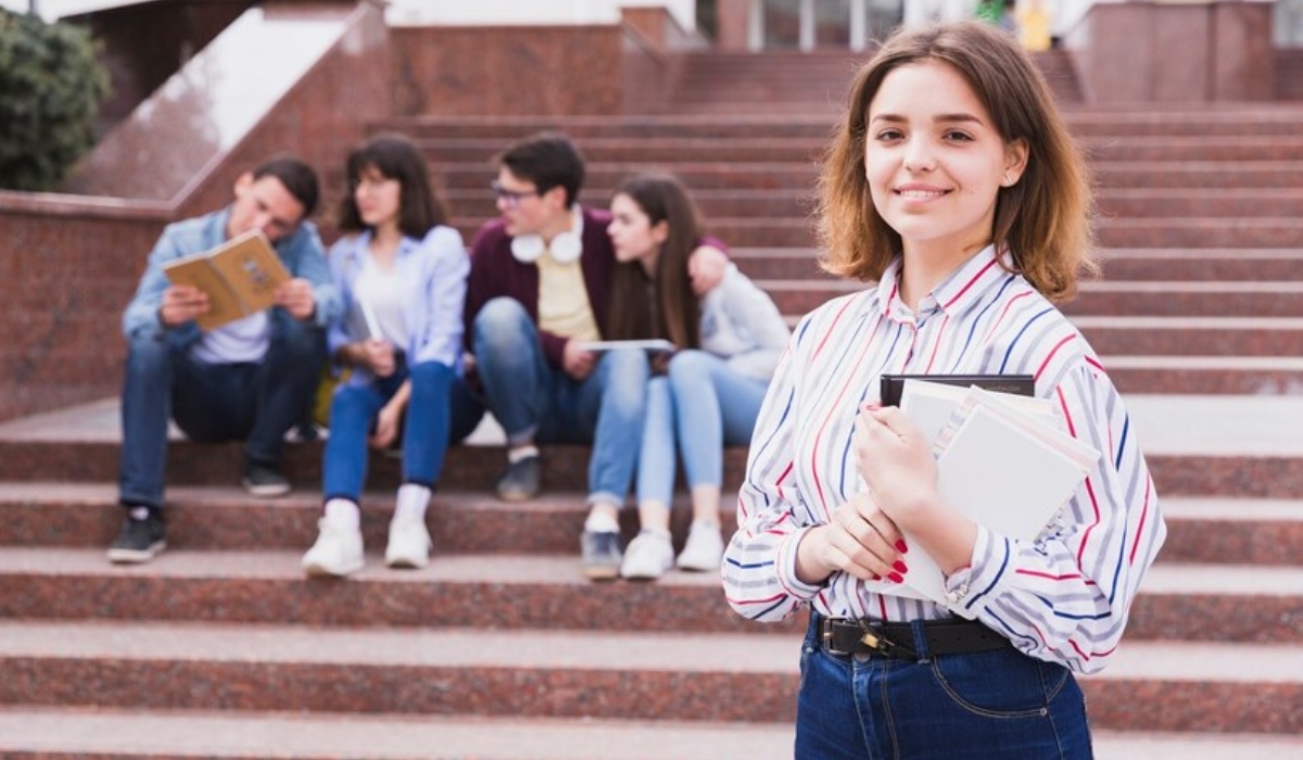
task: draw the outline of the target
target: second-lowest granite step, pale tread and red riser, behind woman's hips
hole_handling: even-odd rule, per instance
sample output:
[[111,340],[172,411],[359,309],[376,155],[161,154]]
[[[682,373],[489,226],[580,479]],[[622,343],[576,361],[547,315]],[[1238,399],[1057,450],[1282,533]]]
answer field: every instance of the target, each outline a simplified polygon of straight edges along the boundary
[[[4,621],[0,704],[774,723],[795,712],[799,643],[778,634]],[[1102,730],[1296,737],[1299,674],[1299,647],[1130,641],[1083,688]]]

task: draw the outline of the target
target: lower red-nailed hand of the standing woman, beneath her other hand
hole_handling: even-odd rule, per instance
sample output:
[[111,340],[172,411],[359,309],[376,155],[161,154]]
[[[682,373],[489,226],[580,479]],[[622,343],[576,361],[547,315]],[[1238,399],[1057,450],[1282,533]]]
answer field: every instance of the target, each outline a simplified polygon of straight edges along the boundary
[[796,548],[796,577],[820,584],[834,572],[847,572],[860,580],[900,583],[908,571],[902,559],[907,550],[896,524],[861,491],[839,506],[830,523],[805,533]]

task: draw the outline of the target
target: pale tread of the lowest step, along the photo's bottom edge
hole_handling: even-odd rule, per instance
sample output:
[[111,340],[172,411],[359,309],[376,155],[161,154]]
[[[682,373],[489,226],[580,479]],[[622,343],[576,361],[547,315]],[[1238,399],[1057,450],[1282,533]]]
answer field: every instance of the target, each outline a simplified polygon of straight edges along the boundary
[[[782,760],[786,723],[0,708],[12,760]],[[1280,760],[1303,738],[1092,731],[1097,760]]]

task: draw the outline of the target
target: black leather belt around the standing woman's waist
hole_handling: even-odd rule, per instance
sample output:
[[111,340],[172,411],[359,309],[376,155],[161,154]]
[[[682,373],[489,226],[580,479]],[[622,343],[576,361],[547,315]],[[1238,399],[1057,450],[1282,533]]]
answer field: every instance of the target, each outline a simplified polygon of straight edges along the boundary
[[[818,635],[830,654],[872,654],[917,660],[909,623],[870,623],[818,617]],[[1009,639],[976,621],[945,619],[923,623],[929,654],[963,654],[1011,647]]]

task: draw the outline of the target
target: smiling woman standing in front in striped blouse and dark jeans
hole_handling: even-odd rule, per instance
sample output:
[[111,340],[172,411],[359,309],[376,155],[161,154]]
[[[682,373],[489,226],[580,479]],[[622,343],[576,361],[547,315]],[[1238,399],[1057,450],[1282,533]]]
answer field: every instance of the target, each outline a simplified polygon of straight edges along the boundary
[[[1091,756],[1074,673],[1117,652],[1165,525],[1126,404],[1054,306],[1089,193],[1038,69],[989,25],[898,33],[855,77],[820,219],[825,266],[868,287],[795,329],[723,563],[737,613],[810,607],[796,757]],[[999,534],[937,495],[885,373],[1032,374],[1102,456],[1035,540]],[[943,602],[898,593],[916,551]]]

